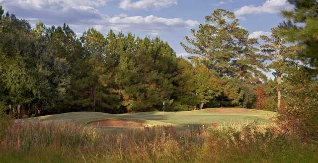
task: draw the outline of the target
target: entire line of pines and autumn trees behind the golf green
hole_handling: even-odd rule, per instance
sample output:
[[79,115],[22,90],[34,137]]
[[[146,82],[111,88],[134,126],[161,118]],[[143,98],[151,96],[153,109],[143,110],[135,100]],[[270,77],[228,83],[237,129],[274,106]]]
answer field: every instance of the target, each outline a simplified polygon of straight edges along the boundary
[[[0,7],[0,106],[16,118],[155,111],[163,100],[168,111],[245,107],[307,115],[317,104],[317,2],[290,2],[295,10],[282,11],[287,20],[261,40],[249,38],[233,12],[213,11],[181,43],[193,54],[188,59],[159,37],[89,28],[79,38],[66,24],[31,28]],[[275,79],[264,75],[269,70]]]

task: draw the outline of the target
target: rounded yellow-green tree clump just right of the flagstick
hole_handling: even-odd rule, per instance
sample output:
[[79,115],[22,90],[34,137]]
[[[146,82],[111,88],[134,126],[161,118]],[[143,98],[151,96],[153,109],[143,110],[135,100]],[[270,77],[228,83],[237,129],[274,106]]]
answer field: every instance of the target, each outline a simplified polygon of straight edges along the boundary
[[[181,92],[175,102],[182,110],[200,109],[210,101],[213,101],[221,93],[218,82],[209,69],[198,62],[198,58],[192,58],[192,66],[185,60],[179,60],[181,79],[179,85]],[[185,108],[184,108],[185,107]],[[184,108],[184,109],[183,109]]]

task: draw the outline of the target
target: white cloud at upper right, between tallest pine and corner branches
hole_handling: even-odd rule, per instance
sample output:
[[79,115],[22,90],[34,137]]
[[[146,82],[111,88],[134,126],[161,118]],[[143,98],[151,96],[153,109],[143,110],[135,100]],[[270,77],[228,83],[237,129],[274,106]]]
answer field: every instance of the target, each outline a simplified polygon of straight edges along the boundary
[[252,14],[252,13],[279,13],[283,9],[293,9],[294,5],[287,0],[266,0],[263,5],[244,5],[234,11],[237,16]]

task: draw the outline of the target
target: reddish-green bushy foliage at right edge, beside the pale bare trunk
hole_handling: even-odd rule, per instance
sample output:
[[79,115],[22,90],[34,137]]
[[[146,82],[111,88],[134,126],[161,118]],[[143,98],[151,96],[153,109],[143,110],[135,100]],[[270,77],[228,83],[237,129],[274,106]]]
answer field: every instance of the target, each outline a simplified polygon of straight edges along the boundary
[[[286,106],[281,118],[297,119],[298,125],[291,126],[300,136],[318,138],[318,80],[307,68],[291,68],[293,73],[286,77]],[[294,69],[294,70],[293,70]]]

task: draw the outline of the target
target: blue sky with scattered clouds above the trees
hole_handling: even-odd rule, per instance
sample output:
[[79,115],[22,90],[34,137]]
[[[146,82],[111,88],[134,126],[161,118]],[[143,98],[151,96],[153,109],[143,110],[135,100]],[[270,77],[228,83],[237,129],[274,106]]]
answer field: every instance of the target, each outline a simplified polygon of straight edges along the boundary
[[106,34],[110,29],[136,36],[159,36],[178,56],[190,29],[205,23],[204,16],[217,8],[233,11],[250,37],[270,35],[283,19],[282,9],[293,9],[287,0],[0,0],[5,11],[47,26],[69,24],[80,36],[90,27]]

